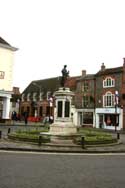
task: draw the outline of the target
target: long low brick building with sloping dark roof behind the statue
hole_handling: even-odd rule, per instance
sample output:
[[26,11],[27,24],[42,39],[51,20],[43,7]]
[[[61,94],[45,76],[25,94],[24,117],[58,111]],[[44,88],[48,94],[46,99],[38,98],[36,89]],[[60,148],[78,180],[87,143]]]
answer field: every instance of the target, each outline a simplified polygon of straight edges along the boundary
[[[66,87],[70,87],[72,91],[75,91],[77,78],[69,77]],[[54,92],[59,87],[60,77],[32,81],[22,93],[20,114],[23,116],[23,113],[27,111],[32,121],[39,121],[45,116],[53,115]]]

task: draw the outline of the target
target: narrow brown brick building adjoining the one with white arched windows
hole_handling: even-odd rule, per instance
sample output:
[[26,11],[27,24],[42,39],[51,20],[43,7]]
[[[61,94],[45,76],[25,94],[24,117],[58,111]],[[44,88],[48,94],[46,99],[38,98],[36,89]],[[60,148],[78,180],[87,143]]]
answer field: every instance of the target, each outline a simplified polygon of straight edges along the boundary
[[75,108],[77,113],[77,125],[94,125],[95,112],[95,75],[86,74],[82,71],[82,76],[77,79],[75,92]]

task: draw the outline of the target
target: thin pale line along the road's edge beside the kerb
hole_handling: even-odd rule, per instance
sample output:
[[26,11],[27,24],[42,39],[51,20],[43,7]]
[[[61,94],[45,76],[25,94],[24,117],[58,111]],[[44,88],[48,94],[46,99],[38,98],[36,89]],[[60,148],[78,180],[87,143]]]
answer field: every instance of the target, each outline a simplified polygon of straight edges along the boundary
[[71,155],[71,156],[125,156],[125,153],[58,153],[58,152],[30,152],[30,151],[7,151],[0,150],[0,153],[15,153],[15,154],[33,154],[33,155]]

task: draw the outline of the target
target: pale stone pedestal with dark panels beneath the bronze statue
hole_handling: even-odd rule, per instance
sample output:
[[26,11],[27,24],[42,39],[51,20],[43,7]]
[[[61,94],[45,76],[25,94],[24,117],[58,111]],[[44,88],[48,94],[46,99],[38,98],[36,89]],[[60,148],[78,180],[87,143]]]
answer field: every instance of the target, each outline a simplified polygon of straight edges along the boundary
[[72,137],[77,133],[77,128],[73,124],[71,114],[72,97],[74,93],[69,88],[59,88],[55,92],[56,108],[54,113],[54,123],[50,125],[49,134],[52,142],[72,141]]

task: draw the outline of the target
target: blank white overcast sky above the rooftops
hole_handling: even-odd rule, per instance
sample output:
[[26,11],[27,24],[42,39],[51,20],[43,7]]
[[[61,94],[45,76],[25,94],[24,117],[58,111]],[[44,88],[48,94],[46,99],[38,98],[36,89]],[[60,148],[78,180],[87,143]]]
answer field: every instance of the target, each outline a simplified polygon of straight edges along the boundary
[[15,52],[13,86],[123,65],[125,0],[0,0],[0,36]]

